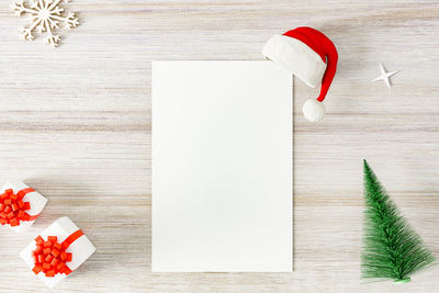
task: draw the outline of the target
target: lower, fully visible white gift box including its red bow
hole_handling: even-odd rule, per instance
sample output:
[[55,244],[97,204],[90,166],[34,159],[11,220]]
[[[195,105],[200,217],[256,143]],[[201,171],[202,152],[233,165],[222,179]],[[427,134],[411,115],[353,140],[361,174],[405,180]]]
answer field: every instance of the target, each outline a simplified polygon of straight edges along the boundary
[[95,247],[68,217],[55,221],[20,256],[48,288],[67,278],[93,252]]

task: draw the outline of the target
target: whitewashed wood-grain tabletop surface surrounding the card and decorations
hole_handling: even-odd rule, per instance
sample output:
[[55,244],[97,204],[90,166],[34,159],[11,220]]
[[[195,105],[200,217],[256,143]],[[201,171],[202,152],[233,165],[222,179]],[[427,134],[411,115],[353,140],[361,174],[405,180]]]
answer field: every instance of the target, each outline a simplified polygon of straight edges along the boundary
[[[439,257],[439,2],[75,0],[55,52],[18,42],[0,3],[0,181],[49,199],[0,234],[0,291],[44,292],[19,251],[67,215],[98,251],[53,292],[439,292],[439,266],[404,285],[360,280],[362,162]],[[340,59],[320,124],[295,82],[294,272],[150,272],[150,60],[261,59],[274,33],[322,30]],[[379,63],[401,70],[389,90]]]

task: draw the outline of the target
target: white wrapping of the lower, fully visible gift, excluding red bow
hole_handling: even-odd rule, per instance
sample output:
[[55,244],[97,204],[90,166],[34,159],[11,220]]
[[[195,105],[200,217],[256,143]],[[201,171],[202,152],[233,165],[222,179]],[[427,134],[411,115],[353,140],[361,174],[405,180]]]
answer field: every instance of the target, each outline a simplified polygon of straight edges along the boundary
[[[48,236],[56,236],[57,241],[63,244],[69,236],[75,233],[78,233],[79,228],[71,222],[68,217],[61,217],[55,221],[47,229],[40,234],[40,236],[44,239],[44,241],[48,240]],[[32,269],[35,266],[35,260],[33,256],[33,251],[36,248],[36,240],[33,240],[26,248],[24,248],[20,256],[27,263],[31,272],[34,274]],[[75,271],[81,266],[93,252],[95,251],[95,247],[93,244],[87,238],[86,235],[81,234],[81,236],[75,239],[68,248],[65,250],[67,253],[71,253],[71,261],[67,261],[66,266]],[[65,273],[56,273],[54,277],[46,277],[46,274],[41,271],[37,273],[40,280],[42,280],[48,288],[54,288],[57,283],[67,278]]]

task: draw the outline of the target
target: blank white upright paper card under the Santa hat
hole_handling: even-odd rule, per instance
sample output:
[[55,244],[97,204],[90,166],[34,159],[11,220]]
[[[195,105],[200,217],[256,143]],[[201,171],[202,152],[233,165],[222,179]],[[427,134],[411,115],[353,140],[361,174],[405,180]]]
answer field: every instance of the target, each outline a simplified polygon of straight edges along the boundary
[[292,77],[153,63],[153,271],[291,272]]

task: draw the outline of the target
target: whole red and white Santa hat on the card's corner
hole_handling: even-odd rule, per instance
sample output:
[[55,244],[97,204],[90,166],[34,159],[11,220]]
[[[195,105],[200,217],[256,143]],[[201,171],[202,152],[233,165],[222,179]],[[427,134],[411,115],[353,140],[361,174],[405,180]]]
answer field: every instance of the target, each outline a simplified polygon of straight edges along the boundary
[[322,83],[317,100],[307,100],[303,105],[307,120],[320,121],[326,111],[323,101],[337,70],[338,54],[333,42],[317,30],[302,26],[272,36],[263,46],[262,54],[309,87]]

